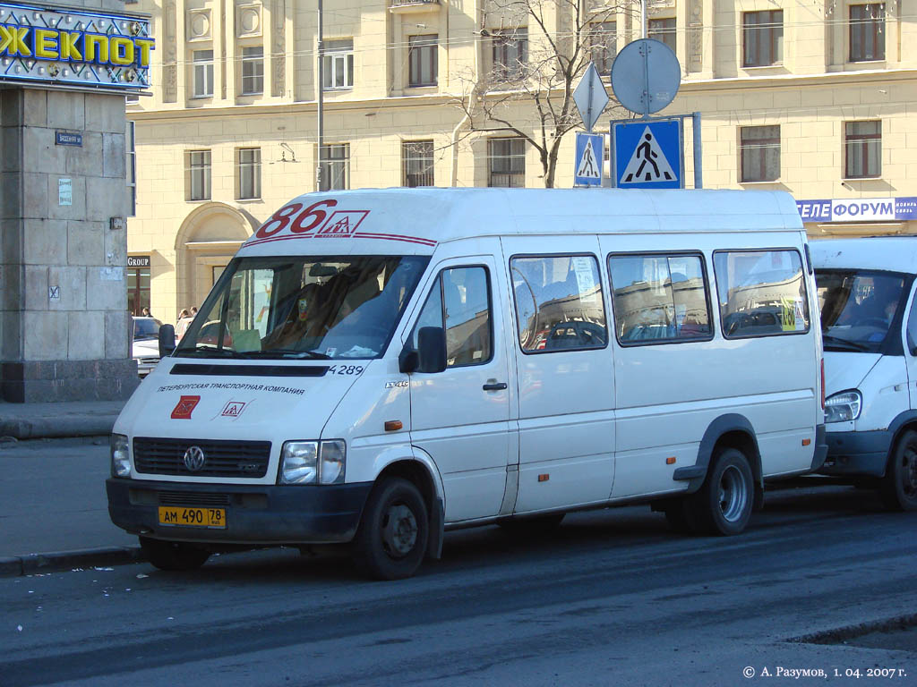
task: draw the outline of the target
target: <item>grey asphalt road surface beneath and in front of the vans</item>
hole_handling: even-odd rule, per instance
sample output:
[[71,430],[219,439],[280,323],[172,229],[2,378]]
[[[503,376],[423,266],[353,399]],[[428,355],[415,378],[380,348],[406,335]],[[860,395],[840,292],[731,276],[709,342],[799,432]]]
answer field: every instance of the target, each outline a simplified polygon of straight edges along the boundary
[[3,579],[0,684],[912,685],[912,641],[851,637],[917,610],[915,525],[869,492],[789,489],[729,539],[646,507],[452,532],[397,583],[295,551]]

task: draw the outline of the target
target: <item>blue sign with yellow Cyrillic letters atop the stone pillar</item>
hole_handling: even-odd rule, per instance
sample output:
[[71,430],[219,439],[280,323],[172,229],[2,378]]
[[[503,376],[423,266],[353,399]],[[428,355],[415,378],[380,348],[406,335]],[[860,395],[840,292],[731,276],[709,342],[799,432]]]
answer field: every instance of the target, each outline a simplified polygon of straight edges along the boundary
[[149,21],[0,3],[0,82],[149,88]]

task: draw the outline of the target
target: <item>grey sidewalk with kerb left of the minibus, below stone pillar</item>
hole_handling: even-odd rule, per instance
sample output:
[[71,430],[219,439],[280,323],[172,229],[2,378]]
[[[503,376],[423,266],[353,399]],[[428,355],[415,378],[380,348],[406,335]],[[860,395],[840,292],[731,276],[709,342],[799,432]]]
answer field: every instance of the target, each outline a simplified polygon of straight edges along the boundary
[[105,498],[125,402],[0,402],[0,577],[139,560]]

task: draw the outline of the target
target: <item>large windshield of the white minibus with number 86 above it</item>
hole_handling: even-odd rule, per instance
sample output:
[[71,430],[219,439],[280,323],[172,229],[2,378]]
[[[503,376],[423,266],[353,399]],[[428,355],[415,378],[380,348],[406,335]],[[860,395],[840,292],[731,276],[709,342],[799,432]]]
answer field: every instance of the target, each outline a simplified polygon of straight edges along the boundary
[[236,258],[175,355],[379,357],[428,261],[421,256]]

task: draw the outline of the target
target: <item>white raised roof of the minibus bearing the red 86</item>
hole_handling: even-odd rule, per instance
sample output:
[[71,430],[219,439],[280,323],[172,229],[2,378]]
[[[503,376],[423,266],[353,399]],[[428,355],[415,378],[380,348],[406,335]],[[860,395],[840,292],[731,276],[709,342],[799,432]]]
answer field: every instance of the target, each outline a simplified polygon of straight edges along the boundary
[[802,222],[783,191],[360,189],[293,199],[241,250],[315,254],[315,246],[292,239],[321,238],[332,242],[324,254],[425,255],[437,244],[482,236],[788,230],[802,231]]

